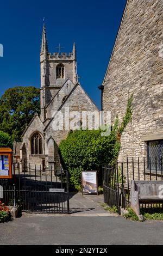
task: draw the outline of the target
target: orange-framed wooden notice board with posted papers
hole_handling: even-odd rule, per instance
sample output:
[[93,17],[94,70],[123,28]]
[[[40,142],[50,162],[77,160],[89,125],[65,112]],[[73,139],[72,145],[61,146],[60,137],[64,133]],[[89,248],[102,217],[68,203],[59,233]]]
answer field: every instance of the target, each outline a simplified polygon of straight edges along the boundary
[[0,148],[0,179],[12,178],[12,149]]

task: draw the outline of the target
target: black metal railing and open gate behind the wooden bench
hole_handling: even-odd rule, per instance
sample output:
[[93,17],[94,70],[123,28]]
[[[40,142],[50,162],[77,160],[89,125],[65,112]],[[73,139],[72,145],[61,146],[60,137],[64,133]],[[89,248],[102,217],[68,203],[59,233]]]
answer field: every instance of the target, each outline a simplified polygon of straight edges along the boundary
[[[143,158],[127,157],[124,162],[116,164],[103,164],[103,190],[104,202],[109,206],[120,208],[130,207],[130,183],[131,180],[161,180],[163,182],[163,159],[151,161]],[[151,208],[152,204],[141,204],[143,208]],[[162,207],[162,204],[155,204]]]

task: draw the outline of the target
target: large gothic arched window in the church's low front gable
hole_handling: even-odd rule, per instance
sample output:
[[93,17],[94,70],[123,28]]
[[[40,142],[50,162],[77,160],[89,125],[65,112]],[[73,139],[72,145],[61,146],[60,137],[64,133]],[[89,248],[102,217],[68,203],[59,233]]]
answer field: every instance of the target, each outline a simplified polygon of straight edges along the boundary
[[31,154],[42,155],[42,137],[39,132],[35,132],[31,138]]

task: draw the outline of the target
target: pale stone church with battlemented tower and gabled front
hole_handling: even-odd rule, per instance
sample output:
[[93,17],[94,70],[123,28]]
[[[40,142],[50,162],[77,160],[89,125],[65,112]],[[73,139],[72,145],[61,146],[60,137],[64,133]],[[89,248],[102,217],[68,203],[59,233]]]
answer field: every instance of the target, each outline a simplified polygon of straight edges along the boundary
[[[76,45],[71,53],[48,51],[46,27],[43,25],[40,53],[41,114],[35,114],[23,132],[23,142],[14,144],[15,157],[23,168],[60,170],[58,145],[67,137],[68,129],[54,129],[57,111],[98,111],[95,103],[85,93],[78,81]],[[17,151],[20,148],[20,156]],[[17,154],[17,155],[16,155]],[[24,167],[25,166],[25,167]],[[25,169],[27,170],[27,168]]]

